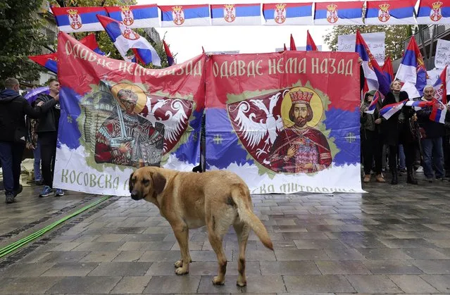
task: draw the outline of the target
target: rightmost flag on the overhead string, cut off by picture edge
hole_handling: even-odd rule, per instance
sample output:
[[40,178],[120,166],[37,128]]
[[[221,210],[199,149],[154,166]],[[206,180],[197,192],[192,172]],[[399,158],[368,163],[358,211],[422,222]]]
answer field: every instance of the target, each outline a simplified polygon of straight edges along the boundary
[[419,25],[449,24],[450,2],[446,0],[420,0],[416,19]]

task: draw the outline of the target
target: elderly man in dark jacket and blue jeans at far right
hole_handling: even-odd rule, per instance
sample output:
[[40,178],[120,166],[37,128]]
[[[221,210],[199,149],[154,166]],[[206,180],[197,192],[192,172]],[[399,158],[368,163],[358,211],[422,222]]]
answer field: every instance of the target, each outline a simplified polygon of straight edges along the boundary
[[[423,101],[432,101],[435,89],[431,85],[423,89]],[[449,110],[449,106],[446,106]],[[423,138],[420,140],[423,151],[423,173],[428,182],[433,182],[433,166],[436,170],[436,180],[444,180],[444,151],[442,137],[445,134],[444,124],[430,120],[432,106],[422,108],[417,112],[418,123],[423,128]],[[449,113],[447,113],[449,115]]]

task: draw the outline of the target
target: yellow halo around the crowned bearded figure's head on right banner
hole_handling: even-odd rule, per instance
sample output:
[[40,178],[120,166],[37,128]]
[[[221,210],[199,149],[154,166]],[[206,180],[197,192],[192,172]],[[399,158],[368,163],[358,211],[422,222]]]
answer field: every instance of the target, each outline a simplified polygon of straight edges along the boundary
[[314,127],[315,125],[318,125],[320,120],[322,120],[323,104],[322,99],[320,99],[320,96],[317,94],[317,92],[308,87],[294,87],[285,92],[285,96],[283,96],[283,101],[281,103],[281,118],[283,120],[283,124],[285,125],[285,127],[292,127],[294,125],[294,122],[289,119],[289,111],[292,107],[291,96],[289,96],[289,93],[299,90],[303,92],[313,92],[313,97],[311,99],[311,102],[309,103],[311,109],[313,110],[313,120],[306,123],[306,125],[308,125],[309,127]]

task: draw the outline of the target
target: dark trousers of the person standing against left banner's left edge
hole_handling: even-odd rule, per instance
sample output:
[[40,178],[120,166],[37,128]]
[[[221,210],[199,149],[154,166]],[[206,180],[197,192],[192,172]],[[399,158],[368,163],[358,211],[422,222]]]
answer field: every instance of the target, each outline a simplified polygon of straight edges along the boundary
[[44,179],[44,185],[48,185],[51,188],[53,188],[53,173],[55,170],[56,140],[56,132],[39,133],[42,178]]

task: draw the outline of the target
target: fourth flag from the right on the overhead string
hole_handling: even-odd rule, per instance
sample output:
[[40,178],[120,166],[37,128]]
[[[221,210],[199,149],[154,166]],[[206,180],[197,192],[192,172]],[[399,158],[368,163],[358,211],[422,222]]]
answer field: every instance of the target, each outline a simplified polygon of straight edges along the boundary
[[263,4],[265,25],[312,25],[313,3]]

